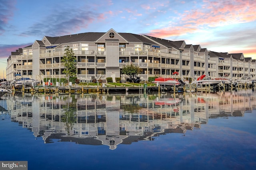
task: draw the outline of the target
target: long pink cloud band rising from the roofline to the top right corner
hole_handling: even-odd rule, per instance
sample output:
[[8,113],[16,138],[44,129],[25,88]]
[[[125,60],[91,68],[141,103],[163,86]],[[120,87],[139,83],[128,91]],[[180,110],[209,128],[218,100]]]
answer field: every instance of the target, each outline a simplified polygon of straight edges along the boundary
[[200,26],[217,27],[226,24],[252,22],[256,20],[256,3],[254,0],[204,0],[202,7],[196,10],[185,11],[180,15],[178,26],[151,30],[148,34],[160,38],[181,36],[195,33]]

